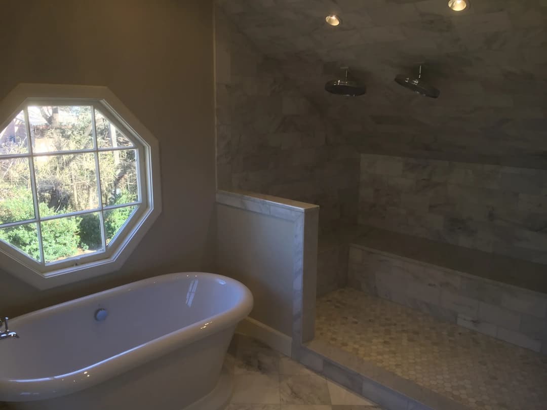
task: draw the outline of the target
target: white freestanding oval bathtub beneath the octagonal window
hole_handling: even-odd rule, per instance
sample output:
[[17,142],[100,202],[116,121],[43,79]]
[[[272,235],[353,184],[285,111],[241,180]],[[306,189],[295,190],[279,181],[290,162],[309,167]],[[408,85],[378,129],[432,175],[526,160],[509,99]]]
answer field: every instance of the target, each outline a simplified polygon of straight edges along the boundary
[[[251,292],[212,273],[141,280],[10,321],[0,402],[25,410],[222,408],[221,377]],[[102,310],[104,309],[104,310]]]

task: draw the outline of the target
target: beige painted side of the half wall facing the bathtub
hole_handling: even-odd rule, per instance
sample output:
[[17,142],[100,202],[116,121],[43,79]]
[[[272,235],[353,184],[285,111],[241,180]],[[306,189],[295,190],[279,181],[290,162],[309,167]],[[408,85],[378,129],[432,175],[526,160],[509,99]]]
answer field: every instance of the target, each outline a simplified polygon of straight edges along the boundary
[[292,335],[294,222],[217,204],[217,271],[254,296],[251,317]]

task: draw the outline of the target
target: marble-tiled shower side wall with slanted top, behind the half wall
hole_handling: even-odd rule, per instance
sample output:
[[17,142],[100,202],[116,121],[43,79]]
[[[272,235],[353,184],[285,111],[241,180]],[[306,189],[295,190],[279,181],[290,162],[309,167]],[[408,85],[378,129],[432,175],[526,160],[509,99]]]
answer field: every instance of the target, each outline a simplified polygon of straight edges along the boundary
[[218,188],[318,204],[323,232],[356,224],[359,155],[278,66],[217,9]]

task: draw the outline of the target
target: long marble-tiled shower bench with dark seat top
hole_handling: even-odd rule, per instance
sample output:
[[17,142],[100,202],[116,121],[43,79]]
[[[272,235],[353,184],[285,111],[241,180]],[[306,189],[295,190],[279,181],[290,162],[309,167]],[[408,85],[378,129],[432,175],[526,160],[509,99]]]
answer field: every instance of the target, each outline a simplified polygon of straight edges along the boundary
[[547,265],[360,227],[348,285],[547,354]]

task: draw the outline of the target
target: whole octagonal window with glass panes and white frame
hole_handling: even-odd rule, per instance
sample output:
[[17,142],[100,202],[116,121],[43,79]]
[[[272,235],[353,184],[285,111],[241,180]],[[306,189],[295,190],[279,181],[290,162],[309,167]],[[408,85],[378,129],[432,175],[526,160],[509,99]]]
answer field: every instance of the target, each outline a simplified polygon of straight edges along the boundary
[[27,97],[0,128],[0,251],[33,284],[107,273],[159,211],[150,143],[105,99],[82,97]]

